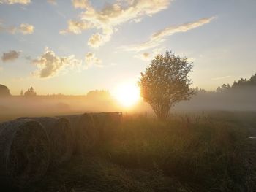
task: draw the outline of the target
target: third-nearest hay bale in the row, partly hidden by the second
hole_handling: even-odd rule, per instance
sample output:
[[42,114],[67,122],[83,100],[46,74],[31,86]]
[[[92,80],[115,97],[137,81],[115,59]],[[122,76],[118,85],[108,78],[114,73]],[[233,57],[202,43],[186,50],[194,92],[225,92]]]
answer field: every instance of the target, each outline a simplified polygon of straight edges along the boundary
[[70,122],[74,135],[75,153],[83,154],[91,150],[95,144],[94,120],[90,114],[63,116]]

